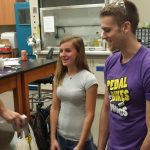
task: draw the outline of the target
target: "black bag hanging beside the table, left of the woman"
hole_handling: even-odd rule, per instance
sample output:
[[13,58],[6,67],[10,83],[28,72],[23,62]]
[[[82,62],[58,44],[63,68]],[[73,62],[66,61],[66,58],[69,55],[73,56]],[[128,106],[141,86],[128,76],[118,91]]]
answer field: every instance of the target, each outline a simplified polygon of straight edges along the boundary
[[39,150],[50,149],[50,106],[40,108],[30,116],[30,125],[33,129]]

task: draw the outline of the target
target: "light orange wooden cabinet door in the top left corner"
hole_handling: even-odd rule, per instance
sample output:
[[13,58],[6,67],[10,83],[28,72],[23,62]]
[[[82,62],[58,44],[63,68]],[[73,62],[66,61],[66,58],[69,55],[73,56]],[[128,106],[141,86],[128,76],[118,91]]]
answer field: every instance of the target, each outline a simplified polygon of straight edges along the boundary
[[15,0],[0,0],[0,25],[14,25],[14,2]]

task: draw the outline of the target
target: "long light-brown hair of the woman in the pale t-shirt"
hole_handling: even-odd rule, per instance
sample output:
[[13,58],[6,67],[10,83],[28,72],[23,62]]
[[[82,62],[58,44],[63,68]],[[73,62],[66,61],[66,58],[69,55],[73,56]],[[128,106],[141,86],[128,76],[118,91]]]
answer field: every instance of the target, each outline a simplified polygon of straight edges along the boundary
[[[75,47],[75,49],[78,52],[78,56],[76,57],[76,60],[75,60],[75,64],[76,64],[78,70],[86,69],[86,70],[90,71],[89,66],[87,64],[87,59],[85,56],[85,47],[84,47],[83,39],[78,36],[68,36],[61,40],[60,46],[66,42],[72,42],[73,46]],[[59,52],[59,54],[60,54],[60,52]],[[67,71],[68,71],[67,67],[63,66],[60,56],[58,56],[57,68],[56,68],[56,72],[55,72],[56,86],[61,85]]]

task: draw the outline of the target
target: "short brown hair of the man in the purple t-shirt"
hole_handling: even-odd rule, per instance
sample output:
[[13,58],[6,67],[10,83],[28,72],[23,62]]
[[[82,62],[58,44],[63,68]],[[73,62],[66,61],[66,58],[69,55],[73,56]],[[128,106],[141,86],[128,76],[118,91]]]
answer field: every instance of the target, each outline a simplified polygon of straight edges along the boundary
[[129,0],[123,0],[123,2],[124,7],[115,3],[106,5],[100,12],[100,17],[112,16],[119,26],[129,21],[131,23],[131,30],[135,34],[139,24],[137,7]]

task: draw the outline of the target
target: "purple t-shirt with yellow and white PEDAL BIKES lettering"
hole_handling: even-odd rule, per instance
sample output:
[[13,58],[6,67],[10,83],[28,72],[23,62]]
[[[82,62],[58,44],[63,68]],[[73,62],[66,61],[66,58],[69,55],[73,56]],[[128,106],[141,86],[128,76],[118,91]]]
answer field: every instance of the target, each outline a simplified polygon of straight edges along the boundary
[[108,150],[139,150],[147,133],[146,100],[150,100],[150,49],[142,46],[125,64],[121,53],[106,60],[109,90]]

